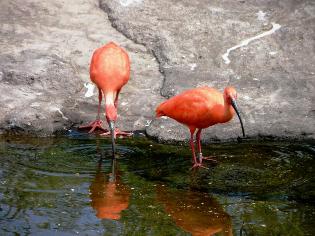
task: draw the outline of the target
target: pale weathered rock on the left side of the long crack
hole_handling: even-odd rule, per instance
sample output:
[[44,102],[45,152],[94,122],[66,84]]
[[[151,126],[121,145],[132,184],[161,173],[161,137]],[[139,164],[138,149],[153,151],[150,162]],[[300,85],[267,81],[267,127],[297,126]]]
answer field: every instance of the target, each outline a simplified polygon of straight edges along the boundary
[[0,133],[47,136],[94,121],[98,91],[86,94],[89,64],[109,41],[127,51],[132,68],[117,128],[145,130],[163,101],[163,75],[145,47],[112,28],[97,1],[4,1],[0,18]]

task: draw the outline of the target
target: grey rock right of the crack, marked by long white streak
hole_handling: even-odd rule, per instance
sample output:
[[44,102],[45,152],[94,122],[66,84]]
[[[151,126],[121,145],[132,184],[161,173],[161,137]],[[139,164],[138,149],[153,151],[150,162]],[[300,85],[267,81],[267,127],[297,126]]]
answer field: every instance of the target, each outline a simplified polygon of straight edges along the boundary
[[[118,31],[157,57],[166,98],[198,86],[223,92],[232,85],[247,137],[315,137],[313,1],[136,1],[123,6],[101,0],[101,7]],[[272,30],[272,23],[281,28],[232,50],[231,62],[225,63],[227,49]],[[158,118],[146,131],[159,140],[189,138],[188,129],[170,119]],[[202,138],[227,141],[238,135],[236,117],[205,129]]]

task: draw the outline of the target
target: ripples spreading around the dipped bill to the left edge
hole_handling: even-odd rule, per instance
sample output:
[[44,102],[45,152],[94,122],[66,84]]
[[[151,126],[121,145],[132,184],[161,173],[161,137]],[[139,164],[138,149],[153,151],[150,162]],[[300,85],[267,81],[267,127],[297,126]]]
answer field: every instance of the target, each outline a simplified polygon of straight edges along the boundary
[[[7,146],[2,154],[2,171],[11,175],[18,171],[31,170],[50,176],[90,176],[95,173],[100,158],[103,159],[104,170],[111,168],[112,145],[108,141],[96,139],[95,142],[95,138],[80,138],[60,142],[46,149]],[[119,161],[128,161],[133,155],[140,153],[142,152],[137,148],[116,144],[115,154]]]

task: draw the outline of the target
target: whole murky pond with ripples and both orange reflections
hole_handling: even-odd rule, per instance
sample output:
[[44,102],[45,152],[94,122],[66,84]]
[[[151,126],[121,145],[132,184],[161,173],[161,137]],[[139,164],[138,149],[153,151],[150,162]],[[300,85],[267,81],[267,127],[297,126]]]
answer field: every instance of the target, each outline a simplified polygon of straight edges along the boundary
[[0,235],[314,235],[315,143],[0,138]]

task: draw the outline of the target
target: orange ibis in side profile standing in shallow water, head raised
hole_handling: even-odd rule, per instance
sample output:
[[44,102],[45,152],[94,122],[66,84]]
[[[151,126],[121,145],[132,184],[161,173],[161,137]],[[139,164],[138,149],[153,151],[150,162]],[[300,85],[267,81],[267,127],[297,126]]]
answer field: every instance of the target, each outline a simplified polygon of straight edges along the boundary
[[[223,94],[215,88],[198,87],[170,98],[157,107],[157,115],[155,117],[168,116],[189,127],[191,133],[190,147],[194,161],[192,168],[196,166],[206,168],[203,165],[209,164],[201,164],[202,160],[213,160],[209,159],[210,157],[202,156],[200,146],[200,134],[202,129],[230,121],[234,116],[234,110],[241,122],[243,137],[245,136],[243,122],[236,104],[236,97],[236,91],[231,86],[227,86]],[[195,144],[193,140],[196,129],[198,129],[196,139],[200,163],[196,160]]]

